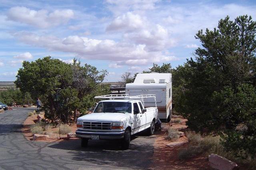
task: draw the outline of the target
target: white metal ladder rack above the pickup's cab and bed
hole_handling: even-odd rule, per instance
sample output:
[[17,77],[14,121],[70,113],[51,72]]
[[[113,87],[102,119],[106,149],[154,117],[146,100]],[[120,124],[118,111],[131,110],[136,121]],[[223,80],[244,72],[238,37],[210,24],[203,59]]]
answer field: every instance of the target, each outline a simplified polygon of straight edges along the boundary
[[96,99],[140,99],[144,105],[144,98],[154,98],[156,104],[156,95],[155,94],[142,94],[138,96],[129,96],[129,94],[109,94],[104,96],[95,96]]

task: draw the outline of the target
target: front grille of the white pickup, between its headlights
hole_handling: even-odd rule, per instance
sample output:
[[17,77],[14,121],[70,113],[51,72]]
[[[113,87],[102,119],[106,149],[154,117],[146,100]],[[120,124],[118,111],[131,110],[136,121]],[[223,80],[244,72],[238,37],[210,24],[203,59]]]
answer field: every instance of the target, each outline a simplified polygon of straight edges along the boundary
[[83,122],[83,129],[111,130],[111,122],[84,121]]

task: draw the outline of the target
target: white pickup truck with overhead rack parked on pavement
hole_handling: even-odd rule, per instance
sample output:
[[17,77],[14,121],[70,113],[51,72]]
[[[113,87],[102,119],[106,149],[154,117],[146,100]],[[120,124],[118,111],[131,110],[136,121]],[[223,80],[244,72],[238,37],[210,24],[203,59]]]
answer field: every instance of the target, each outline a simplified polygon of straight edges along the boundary
[[[81,146],[87,147],[88,139],[119,139],[123,149],[128,149],[131,135],[147,129],[154,134],[158,120],[157,107],[144,108],[143,98],[155,95],[105,95],[95,98],[100,101],[93,113],[77,119],[76,136],[81,138]],[[139,99],[139,100],[138,100]]]

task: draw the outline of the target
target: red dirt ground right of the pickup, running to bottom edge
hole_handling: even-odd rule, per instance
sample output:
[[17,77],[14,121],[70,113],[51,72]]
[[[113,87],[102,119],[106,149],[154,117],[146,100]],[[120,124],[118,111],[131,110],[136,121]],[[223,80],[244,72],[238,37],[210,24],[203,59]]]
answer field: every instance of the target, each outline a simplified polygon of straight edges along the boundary
[[[178,129],[179,131],[185,131],[186,119],[182,119],[182,123],[174,123],[170,126],[170,123],[162,123],[162,131],[156,132],[156,138],[154,143],[154,156],[152,158],[152,169],[161,170],[209,170],[210,164],[208,158],[202,155],[194,156],[188,160],[178,159],[178,151],[188,145],[188,139],[186,136],[179,138],[175,142],[170,142],[165,139],[167,130],[169,127]],[[181,145],[170,147],[174,143],[181,143]],[[183,144],[182,144],[183,143]]]

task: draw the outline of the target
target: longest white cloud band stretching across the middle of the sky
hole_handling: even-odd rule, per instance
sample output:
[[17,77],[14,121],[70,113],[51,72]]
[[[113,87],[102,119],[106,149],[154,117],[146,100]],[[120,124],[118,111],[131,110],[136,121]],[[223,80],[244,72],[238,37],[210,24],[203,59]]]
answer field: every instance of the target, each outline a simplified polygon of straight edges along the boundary
[[[92,60],[117,61],[122,65],[143,65],[156,60],[171,61],[174,59],[162,55],[161,51],[147,51],[146,45],[116,42],[110,39],[88,39],[79,36],[68,36],[60,39],[51,35],[39,36],[26,32],[15,33],[14,36],[24,43],[52,51],[76,53],[78,57]],[[116,67],[112,64],[110,66]]]

